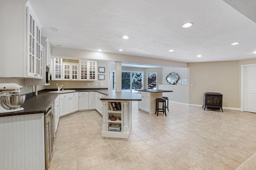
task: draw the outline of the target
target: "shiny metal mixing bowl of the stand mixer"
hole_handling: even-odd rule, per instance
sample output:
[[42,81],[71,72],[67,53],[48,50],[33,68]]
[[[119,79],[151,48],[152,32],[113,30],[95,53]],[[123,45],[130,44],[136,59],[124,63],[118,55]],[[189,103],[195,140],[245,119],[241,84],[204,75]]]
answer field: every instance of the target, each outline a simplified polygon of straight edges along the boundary
[[2,101],[10,109],[18,109],[25,102],[26,94],[8,94],[2,96]]

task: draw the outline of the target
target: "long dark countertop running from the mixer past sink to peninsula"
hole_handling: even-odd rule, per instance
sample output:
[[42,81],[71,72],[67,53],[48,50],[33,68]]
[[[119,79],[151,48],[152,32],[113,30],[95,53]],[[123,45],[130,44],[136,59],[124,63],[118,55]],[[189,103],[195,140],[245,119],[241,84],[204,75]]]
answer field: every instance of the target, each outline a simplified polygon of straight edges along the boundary
[[[77,89],[74,89],[77,90]],[[76,92],[99,92],[104,95],[108,95],[102,98],[102,100],[141,100],[141,94],[132,94],[128,92],[115,92],[114,90],[107,89],[79,89]],[[67,92],[72,93],[72,92]],[[62,93],[63,94],[63,93]],[[24,104],[21,107],[24,108],[22,111],[10,112],[10,113],[0,113],[0,117],[14,116],[14,115],[26,115],[34,113],[46,113],[46,111],[51,107],[55,98],[59,93],[49,93],[46,89],[44,92],[38,94],[37,96],[31,96],[26,98]]]

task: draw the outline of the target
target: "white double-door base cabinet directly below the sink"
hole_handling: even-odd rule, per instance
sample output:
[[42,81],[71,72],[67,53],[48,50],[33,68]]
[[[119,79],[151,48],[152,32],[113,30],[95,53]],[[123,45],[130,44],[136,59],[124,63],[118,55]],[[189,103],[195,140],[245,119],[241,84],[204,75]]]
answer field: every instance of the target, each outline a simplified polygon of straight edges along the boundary
[[60,94],[60,116],[78,110],[78,92]]

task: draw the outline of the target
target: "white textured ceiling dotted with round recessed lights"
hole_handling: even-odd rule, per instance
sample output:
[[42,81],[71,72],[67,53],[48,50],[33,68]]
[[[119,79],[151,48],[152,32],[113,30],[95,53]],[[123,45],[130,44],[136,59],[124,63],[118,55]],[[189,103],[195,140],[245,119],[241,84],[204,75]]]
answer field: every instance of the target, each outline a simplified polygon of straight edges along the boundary
[[225,1],[30,0],[52,46],[187,63],[256,58],[255,15],[234,9],[255,0]]

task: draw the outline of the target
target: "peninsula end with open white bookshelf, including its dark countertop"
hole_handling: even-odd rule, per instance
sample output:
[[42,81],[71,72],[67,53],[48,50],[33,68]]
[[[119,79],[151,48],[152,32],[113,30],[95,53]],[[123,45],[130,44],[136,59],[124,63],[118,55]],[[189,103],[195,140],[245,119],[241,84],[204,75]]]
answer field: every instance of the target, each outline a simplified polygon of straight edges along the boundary
[[[141,95],[113,92],[100,100],[103,106],[102,137],[127,139],[132,126],[132,101],[140,101]],[[112,126],[113,128],[111,128]]]

